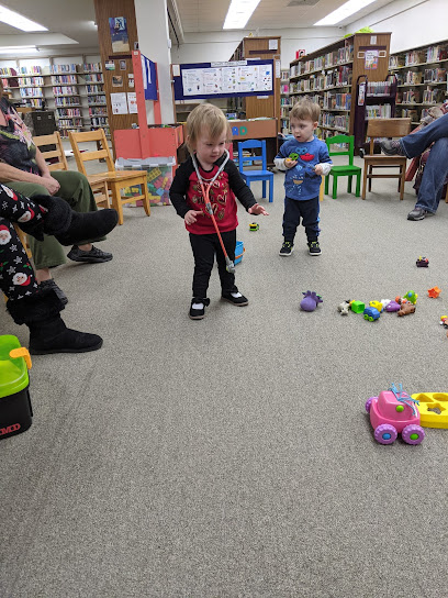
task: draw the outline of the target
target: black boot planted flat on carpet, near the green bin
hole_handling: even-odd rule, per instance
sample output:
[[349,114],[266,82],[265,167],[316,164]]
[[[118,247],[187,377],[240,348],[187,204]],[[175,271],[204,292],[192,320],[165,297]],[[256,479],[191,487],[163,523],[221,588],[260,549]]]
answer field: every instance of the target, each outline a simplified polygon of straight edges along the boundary
[[15,301],[9,300],[8,311],[16,324],[30,329],[30,353],[86,353],[102,345],[101,336],[68,329],[59,312],[64,304],[54,290],[44,291]]

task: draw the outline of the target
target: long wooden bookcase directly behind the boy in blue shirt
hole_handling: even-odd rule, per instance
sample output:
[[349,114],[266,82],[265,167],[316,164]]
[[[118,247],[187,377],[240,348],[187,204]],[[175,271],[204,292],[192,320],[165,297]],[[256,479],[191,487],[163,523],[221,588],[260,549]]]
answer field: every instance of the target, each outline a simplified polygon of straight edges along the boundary
[[355,33],[290,63],[290,98],[309,96],[321,106],[322,139],[354,134],[356,82],[384,81],[389,73],[390,33]]

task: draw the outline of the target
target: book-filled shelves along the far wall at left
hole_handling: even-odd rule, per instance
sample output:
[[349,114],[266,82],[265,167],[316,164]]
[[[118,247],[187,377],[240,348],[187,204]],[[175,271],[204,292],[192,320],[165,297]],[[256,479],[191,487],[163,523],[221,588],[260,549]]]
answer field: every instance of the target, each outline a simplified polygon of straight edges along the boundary
[[13,103],[55,110],[63,137],[99,128],[109,135],[101,63],[2,67],[0,77]]

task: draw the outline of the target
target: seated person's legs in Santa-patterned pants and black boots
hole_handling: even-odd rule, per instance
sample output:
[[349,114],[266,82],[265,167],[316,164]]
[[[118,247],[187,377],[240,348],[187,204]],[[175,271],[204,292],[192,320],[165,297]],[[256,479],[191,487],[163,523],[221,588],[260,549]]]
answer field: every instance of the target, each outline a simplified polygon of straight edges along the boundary
[[110,232],[116,222],[115,210],[79,213],[60,198],[35,196],[31,200],[0,185],[0,289],[8,297],[7,309],[14,322],[30,329],[30,353],[96,351],[102,339],[65,325],[63,302],[53,289],[37,285],[13,223],[37,240],[45,233],[63,245],[71,245],[86,234]]

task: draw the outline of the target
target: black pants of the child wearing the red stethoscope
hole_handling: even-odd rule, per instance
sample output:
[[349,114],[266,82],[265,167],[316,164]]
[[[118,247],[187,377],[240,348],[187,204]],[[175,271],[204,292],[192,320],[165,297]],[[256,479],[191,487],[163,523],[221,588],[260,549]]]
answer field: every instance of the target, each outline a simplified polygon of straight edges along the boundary
[[[235,262],[236,230],[221,233],[221,236],[228,257]],[[225,269],[225,258],[217,234],[190,233],[190,243],[194,256],[193,297],[206,298],[215,254],[222,292],[238,292],[235,286],[235,275]]]

